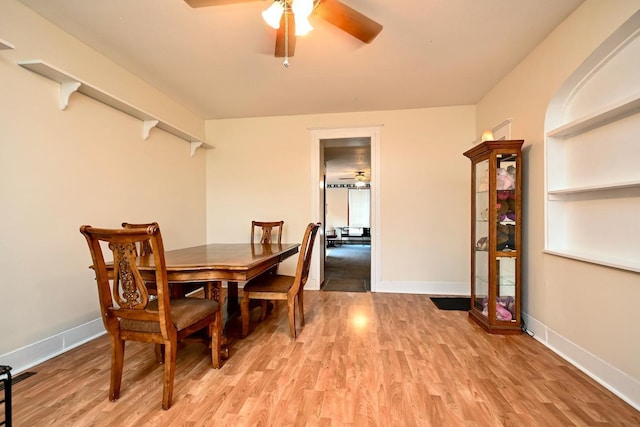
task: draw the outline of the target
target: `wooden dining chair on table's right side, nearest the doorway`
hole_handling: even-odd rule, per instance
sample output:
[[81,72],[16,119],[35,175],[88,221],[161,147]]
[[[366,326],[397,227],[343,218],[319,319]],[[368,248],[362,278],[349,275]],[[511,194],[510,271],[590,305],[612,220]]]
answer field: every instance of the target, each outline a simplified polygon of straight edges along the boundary
[[295,305],[298,303],[300,325],[304,326],[304,285],[307,283],[311,266],[313,243],[320,224],[310,223],[304,233],[295,276],[281,274],[262,275],[252,279],[244,286],[244,293],[240,303],[242,315],[242,336],[249,333],[249,302],[255,300],[286,300],[289,316],[289,332],[296,338]]

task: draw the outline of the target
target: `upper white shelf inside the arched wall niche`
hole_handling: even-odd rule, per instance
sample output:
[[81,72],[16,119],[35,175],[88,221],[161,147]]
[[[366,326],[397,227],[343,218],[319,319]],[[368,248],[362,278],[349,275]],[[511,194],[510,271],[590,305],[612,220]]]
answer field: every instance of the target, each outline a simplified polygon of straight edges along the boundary
[[640,96],[636,95],[552,129],[547,132],[547,136],[570,138],[638,112],[640,112]]

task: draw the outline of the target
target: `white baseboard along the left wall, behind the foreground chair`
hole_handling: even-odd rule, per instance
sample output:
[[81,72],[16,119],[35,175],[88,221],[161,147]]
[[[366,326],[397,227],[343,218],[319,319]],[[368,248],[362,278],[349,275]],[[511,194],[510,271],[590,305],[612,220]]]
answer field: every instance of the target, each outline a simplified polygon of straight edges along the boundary
[[91,320],[10,353],[2,354],[0,365],[11,366],[11,375],[15,376],[106,333],[101,318]]

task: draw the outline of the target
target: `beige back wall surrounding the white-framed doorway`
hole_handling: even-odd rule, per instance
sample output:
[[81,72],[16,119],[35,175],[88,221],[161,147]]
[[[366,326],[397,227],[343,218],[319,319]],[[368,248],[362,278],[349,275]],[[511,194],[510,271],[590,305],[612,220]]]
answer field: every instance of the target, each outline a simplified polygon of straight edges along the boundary
[[468,293],[470,166],[462,153],[475,138],[473,106],[208,121],[216,149],[207,152],[207,239],[245,241],[251,219],[281,218],[284,239],[300,241],[320,219],[311,206],[309,129],[373,125],[382,125],[381,285],[455,293],[463,284]]

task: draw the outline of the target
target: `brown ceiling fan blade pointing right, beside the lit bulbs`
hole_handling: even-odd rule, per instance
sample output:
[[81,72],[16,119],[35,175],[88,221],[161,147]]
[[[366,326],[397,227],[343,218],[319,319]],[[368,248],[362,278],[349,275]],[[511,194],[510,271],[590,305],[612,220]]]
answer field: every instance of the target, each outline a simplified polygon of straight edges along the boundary
[[338,0],[321,0],[314,13],[365,43],[382,31],[382,25]]

